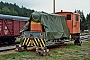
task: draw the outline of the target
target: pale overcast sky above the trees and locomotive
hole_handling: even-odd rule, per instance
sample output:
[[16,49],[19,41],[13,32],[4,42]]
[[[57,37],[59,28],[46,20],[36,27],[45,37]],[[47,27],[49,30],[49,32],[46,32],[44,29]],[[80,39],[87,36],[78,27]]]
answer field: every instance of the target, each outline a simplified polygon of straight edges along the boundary
[[[0,0],[8,3],[16,3],[20,7],[23,5],[26,8],[36,11],[53,12],[53,0]],[[75,9],[83,10],[84,14],[90,13],[90,0],[56,0],[56,12],[60,10],[71,11]]]

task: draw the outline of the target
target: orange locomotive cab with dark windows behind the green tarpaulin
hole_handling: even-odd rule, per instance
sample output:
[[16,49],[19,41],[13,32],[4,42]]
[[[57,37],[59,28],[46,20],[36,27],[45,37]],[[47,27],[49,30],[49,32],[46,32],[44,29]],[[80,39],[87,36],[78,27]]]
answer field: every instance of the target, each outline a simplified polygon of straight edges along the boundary
[[80,14],[73,12],[56,12],[65,17],[68,29],[71,34],[71,39],[75,40],[75,37],[80,39]]

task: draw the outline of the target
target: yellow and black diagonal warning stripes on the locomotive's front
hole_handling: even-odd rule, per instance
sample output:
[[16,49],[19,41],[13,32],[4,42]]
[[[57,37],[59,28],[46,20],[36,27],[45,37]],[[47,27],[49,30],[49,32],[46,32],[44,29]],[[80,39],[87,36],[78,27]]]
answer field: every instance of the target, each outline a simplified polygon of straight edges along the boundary
[[45,39],[42,38],[34,38],[34,40],[30,40],[30,38],[23,38],[23,45],[27,46],[39,46],[45,47]]

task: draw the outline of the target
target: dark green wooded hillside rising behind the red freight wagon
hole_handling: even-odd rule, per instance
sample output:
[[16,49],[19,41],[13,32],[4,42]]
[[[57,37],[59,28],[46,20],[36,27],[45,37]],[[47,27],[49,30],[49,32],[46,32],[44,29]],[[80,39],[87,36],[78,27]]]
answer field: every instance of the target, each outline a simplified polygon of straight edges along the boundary
[[34,12],[34,10],[27,9],[23,6],[20,8],[16,3],[11,4],[7,2],[3,3],[2,1],[0,2],[0,14],[29,17],[32,12]]

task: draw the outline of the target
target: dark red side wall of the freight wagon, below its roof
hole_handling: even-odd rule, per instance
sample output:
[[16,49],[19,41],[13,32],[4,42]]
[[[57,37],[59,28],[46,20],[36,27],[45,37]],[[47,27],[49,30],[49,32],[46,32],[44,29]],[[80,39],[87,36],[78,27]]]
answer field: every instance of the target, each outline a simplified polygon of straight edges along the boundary
[[0,37],[2,36],[19,36],[20,30],[25,25],[23,20],[0,19]]

